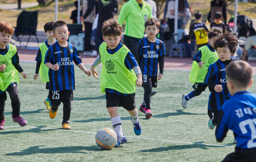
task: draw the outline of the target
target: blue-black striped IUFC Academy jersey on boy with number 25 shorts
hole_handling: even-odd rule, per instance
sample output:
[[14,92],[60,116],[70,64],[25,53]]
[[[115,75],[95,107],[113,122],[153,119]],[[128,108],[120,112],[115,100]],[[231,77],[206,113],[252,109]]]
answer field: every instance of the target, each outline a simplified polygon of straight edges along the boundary
[[74,45],[68,42],[61,47],[58,42],[51,45],[46,52],[44,63],[58,64],[59,70],[49,69],[49,91],[75,90],[74,65],[82,63]]

